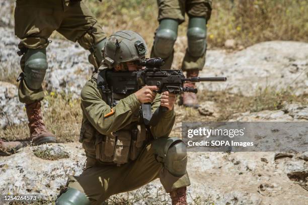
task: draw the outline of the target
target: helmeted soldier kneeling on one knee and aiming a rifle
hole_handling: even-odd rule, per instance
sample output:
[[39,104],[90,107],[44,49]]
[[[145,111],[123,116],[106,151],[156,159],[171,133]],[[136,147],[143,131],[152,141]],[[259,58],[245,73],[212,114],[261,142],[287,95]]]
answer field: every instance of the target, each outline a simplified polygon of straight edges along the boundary
[[[182,140],[169,137],[175,122],[175,94],[157,94],[157,86],[144,86],[127,96],[113,93],[113,105],[108,105],[105,87],[97,86],[104,69],[142,69],[135,62],[146,53],[144,40],[132,31],[116,32],[107,39],[104,65],[81,92],[86,169],[80,176],[68,177],[56,204],[101,204],[113,194],[137,189],[156,178],[170,193],[172,204],[187,204],[186,147]],[[146,126],[139,115],[141,103],[146,102],[151,103],[152,112],[160,106],[168,108],[155,126]]]

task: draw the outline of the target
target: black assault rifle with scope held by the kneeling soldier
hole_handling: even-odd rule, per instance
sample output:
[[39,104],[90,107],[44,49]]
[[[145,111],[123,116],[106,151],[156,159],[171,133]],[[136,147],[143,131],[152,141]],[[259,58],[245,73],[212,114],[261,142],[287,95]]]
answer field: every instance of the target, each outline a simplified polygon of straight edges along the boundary
[[[108,60],[108,59],[107,59]],[[129,95],[139,90],[144,85],[156,85],[156,92],[169,91],[180,94],[183,92],[194,92],[198,90],[192,87],[184,87],[186,81],[226,81],[226,77],[190,77],[186,78],[182,70],[163,70],[160,67],[165,64],[162,58],[150,58],[136,62],[137,65],[145,66],[145,69],[138,71],[114,71],[102,70],[97,79],[97,86],[101,87],[107,96],[109,106],[113,106],[113,93]],[[146,125],[155,125],[158,117],[167,108],[160,107],[152,115],[151,104],[142,104],[142,116]]]

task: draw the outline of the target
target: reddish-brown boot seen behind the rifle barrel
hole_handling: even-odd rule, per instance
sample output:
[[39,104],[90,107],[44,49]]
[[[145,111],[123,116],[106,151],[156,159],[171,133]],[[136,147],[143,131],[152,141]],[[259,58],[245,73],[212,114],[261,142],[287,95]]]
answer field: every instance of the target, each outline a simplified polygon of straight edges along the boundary
[[[199,70],[193,69],[193,70],[188,70],[187,71],[187,78],[188,77],[197,77],[199,74]],[[184,87],[192,87],[196,88],[196,85],[194,82],[186,82],[184,83]],[[198,108],[198,99],[196,93],[193,92],[184,92],[182,95],[182,104],[185,107],[190,107],[190,108]]]

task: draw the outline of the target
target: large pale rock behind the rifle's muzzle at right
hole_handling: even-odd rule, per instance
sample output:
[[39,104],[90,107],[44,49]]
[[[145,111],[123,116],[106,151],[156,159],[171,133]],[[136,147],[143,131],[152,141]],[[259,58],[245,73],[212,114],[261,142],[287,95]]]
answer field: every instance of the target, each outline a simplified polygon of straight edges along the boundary
[[197,88],[252,96],[259,87],[290,86],[299,95],[308,93],[307,67],[308,43],[304,42],[262,42],[233,53],[208,50],[200,76],[226,76],[227,81],[197,83]]

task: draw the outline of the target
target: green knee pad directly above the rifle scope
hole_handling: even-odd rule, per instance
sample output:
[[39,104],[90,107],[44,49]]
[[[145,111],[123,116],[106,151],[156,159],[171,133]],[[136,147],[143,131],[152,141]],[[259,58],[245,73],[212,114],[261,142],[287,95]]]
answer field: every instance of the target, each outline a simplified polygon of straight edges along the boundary
[[178,36],[179,22],[173,19],[163,19],[156,31],[153,50],[157,57],[168,58],[173,52],[173,46]]

